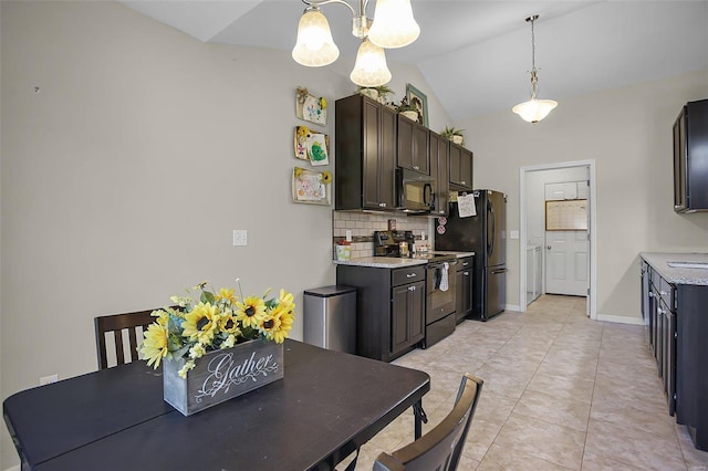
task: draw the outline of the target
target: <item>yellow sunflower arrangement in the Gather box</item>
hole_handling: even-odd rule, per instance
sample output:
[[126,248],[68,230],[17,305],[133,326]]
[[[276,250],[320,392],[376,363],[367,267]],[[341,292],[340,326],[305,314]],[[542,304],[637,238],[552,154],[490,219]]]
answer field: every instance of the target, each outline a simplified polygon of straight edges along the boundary
[[242,293],[239,297],[233,289],[215,293],[206,289],[207,284],[205,281],[192,287],[200,292],[198,302],[190,290],[185,290],[186,296],[170,297],[176,306],[153,312],[157,318],[147,327],[139,347],[148,366],[157,368],[163,358],[184,357],[179,376],[186,378],[207,352],[259,337],[280,344],[288,337],[295,317],[292,293],[280,290],[278,297],[267,299],[269,289],[260,297],[243,297]]

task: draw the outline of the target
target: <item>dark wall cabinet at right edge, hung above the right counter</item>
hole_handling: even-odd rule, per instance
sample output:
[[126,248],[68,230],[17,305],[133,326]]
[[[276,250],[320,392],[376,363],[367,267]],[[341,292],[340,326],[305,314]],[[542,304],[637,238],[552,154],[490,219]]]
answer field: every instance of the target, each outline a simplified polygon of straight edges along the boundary
[[674,123],[674,210],[708,211],[708,100],[688,102]]

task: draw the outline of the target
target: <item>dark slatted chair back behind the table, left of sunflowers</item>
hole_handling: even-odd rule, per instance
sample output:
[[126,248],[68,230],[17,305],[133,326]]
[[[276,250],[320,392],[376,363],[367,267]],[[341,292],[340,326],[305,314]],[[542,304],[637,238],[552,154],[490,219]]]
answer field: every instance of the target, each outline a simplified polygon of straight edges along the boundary
[[[155,322],[155,317],[150,315],[154,310],[137,311],[124,314],[113,314],[98,316],[94,320],[96,329],[96,350],[98,352],[98,368],[104,369],[108,367],[108,348],[111,343],[115,345],[115,359],[116,365],[123,365],[125,360],[125,347],[124,346],[124,333],[127,332],[131,359],[134,362],[138,359],[137,347],[143,341],[143,332],[147,331],[147,326]],[[138,336],[139,332],[139,336]],[[113,334],[113,335],[112,335]],[[112,338],[113,342],[106,342],[106,337]],[[127,362],[127,363],[129,363]],[[111,365],[111,366],[116,366]]]

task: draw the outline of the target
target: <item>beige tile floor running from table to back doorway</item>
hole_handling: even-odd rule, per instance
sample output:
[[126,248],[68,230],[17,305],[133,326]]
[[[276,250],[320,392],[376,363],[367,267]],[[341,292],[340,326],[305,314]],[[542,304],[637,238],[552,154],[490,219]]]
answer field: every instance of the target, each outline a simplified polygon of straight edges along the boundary
[[[708,452],[667,412],[644,328],[590,321],[584,297],[466,321],[394,363],[430,375],[424,432],[451,409],[462,373],[485,380],[459,470],[708,470]],[[362,448],[356,469],[412,440],[406,412]]]

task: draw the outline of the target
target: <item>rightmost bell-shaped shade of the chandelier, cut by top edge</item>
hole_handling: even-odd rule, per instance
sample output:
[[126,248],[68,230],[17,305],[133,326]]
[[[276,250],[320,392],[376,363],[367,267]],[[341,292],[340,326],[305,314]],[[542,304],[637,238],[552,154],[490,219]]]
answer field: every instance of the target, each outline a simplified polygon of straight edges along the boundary
[[387,49],[410,44],[420,34],[420,27],[413,18],[410,0],[376,0],[374,23],[368,39]]

